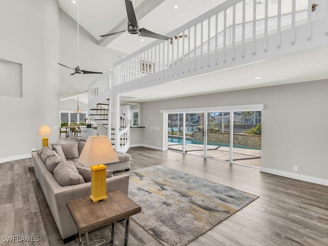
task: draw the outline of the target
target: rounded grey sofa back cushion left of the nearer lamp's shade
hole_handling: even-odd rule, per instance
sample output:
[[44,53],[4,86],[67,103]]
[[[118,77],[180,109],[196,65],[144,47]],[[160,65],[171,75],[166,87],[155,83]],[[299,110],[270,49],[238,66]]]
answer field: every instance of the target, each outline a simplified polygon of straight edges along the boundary
[[60,186],[72,186],[85,183],[83,177],[71,161],[61,161],[53,171],[53,176]]

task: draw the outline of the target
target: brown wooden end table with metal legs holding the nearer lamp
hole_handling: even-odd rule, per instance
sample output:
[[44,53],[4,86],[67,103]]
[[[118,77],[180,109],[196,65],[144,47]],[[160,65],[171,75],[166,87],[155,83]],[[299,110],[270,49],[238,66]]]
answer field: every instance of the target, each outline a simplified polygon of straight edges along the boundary
[[107,192],[107,200],[93,203],[89,197],[67,202],[67,208],[78,230],[80,245],[81,234],[85,234],[89,245],[88,233],[112,224],[111,241],[114,243],[115,222],[126,219],[124,245],[128,244],[129,217],[140,213],[141,207],[119,190]]

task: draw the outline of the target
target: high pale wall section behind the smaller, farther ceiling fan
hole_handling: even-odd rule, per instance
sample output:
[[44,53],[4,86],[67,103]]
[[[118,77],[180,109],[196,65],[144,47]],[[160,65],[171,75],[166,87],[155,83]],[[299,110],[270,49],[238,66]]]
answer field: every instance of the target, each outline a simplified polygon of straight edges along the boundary
[[[92,20],[90,20],[92,21]],[[77,67],[77,23],[59,9],[60,57],[57,63],[70,68]],[[100,35],[100,34],[99,34]],[[124,52],[98,46],[97,40],[83,27],[79,27],[79,67],[87,71],[108,72]],[[60,67],[60,95],[86,91],[99,74],[75,74],[73,70]]]

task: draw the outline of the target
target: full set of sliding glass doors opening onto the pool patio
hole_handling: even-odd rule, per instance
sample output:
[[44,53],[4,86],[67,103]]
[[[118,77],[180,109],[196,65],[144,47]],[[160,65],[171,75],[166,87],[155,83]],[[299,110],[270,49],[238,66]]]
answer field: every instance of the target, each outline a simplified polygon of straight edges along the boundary
[[261,107],[254,105],[260,110],[253,111],[222,107],[217,111],[168,113],[168,149],[260,167]]

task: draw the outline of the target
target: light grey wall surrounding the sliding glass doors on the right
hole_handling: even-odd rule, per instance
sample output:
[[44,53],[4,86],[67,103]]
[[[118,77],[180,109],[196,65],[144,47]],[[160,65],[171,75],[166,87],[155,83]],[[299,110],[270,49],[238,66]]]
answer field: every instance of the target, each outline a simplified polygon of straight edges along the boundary
[[142,145],[162,147],[160,110],[264,104],[261,171],[328,185],[327,93],[328,80],[320,80],[142,103]]

